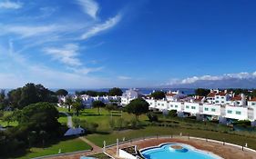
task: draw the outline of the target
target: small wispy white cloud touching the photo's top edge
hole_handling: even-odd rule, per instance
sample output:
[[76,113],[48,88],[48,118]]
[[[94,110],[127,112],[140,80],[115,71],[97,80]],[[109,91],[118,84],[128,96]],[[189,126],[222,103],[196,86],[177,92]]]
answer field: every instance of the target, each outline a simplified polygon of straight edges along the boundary
[[98,5],[94,0],[77,0],[77,3],[82,6],[83,11],[92,18],[97,19]]

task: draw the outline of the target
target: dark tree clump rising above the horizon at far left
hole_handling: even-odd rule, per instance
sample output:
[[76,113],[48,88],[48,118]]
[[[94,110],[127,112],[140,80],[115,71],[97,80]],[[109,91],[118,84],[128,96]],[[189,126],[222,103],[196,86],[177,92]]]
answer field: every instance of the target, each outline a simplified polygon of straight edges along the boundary
[[8,99],[12,107],[18,109],[38,102],[57,103],[55,93],[41,84],[26,84],[22,88],[12,90],[8,93]]

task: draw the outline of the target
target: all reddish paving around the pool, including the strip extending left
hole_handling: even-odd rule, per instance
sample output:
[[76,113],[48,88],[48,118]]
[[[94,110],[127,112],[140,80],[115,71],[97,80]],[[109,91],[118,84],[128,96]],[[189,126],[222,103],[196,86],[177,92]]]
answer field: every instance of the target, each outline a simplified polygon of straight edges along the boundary
[[[175,137],[175,138],[150,138],[145,140],[133,141],[128,142],[125,144],[119,144],[119,148],[125,148],[133,145],[137,145],[138,149],[147,148],[150,146],[158,146],[159,144],[164,143],[182,143],[182,144],[189,144],[199,150],[204,150],[207,152],[211,152],[213,154],[217,154],[224,159],[256,159],[256,153],[244,150],[242,151],[241,147],[235,147],[232,145],[223,145],[218,143],[207,142],[206,140],[199,140],[194,138],[188,137]],[[79,159],[82,155],[88,154],[97,154],[102,153],[102,149],[97,147],[96,145],[93,146],[93,151],[87,153],[77,153],[77,154],[64,154],[61,156],[55,157],[47,157],[52,159]],[[111,156],[115,157],[116,159],[121,159],[118,157],[117,154],[117,146],[111,146],[106,149],[106,152]]]

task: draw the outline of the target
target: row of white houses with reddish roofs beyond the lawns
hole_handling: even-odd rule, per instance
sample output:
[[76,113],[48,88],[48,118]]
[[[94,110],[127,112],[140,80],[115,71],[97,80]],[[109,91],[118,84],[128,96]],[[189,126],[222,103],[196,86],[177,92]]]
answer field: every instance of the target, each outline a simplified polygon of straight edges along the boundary
[[[219,120],[226,124],[229,120],[250,120],[256,124],[256,98],[247,97],[245,94],[234,94],[227,90],[210,90],[207,96],[188,96],[177,92],[167,92],[163,99],[153,99],[150,95],[139,93],[137,89],[128,89],[122,96],[79,96],[84,105],[91,107],[93,101],[99,100],[105,104],[118,101],[118,104],[126,106],[130,101],[142,97],[150,110],[171,111],[176,110],[179,116],[197,116],[200,120]],[[73,96],[77,98],[77,96]],[[66,97],[59,97],[61,103],[65,103]]]

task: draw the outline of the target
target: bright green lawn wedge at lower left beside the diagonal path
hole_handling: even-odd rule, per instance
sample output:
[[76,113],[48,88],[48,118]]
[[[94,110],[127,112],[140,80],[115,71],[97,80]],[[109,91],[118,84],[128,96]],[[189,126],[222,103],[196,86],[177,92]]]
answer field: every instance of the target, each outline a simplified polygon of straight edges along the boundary
[[61,153],[89,150],[91,147],[80,140],[79,138],[69,139],[66,141],[61,141],[57,144],[52,144],[46,148],[30,148],[30,152],[26,155],[19,157],[20,159],[33,158],[38,156],[45,156],[49,154],[58,154],[59,149],[61,149]]

